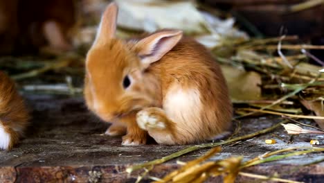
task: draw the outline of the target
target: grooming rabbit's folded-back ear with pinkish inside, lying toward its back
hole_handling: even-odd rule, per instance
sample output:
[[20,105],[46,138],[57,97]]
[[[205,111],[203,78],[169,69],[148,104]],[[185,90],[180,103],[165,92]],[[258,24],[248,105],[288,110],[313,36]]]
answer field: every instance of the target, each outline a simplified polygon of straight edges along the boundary
[[181,30],[162,30],[140,40],[138,46],[138,56],[145,66],[160,60],[181,40]]

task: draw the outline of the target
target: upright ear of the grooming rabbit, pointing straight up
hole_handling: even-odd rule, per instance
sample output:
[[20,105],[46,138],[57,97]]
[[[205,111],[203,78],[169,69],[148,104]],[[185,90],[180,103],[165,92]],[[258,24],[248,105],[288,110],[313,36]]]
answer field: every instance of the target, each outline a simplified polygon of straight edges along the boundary
[[115,2],[110,3],[103,12],[100,25],[98,27],[95,44],[105,44],[116,34],[118,6]]

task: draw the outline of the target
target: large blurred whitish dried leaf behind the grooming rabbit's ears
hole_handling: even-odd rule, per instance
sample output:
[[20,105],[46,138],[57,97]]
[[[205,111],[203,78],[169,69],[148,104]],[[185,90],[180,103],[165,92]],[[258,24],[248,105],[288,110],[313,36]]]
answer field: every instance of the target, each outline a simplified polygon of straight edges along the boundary
[[[227,40],[248,40],[249,36],[234,27],[235,19],[219,19],[208,12],[199,12],[192,1],[117,0],[118,26],[128,30],[154,32],[161,28],[177,28],[207,48]],[[177,15],[177,16],[174,16]],[[188,16],[190,15],[190,16]]]

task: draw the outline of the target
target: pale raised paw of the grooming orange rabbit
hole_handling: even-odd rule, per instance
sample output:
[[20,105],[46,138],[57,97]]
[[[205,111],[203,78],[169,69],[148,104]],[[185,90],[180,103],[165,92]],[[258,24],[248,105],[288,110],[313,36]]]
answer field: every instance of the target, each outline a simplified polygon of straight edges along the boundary
[[154,116],[145,110],[137,113],[136,121],[139,128],[142,128],[143,130],[147,130],[148,128],[159,130],[165,129],[165,123],[160,121],[158,116]]

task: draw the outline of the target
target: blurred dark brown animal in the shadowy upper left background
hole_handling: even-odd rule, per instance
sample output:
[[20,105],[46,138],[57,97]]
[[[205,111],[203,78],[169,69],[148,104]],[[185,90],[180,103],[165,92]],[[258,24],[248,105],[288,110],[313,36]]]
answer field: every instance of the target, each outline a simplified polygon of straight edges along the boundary
[[28,52],[42,46],[71,49],[75,24],[73,0],[0,0],[0,54]]

